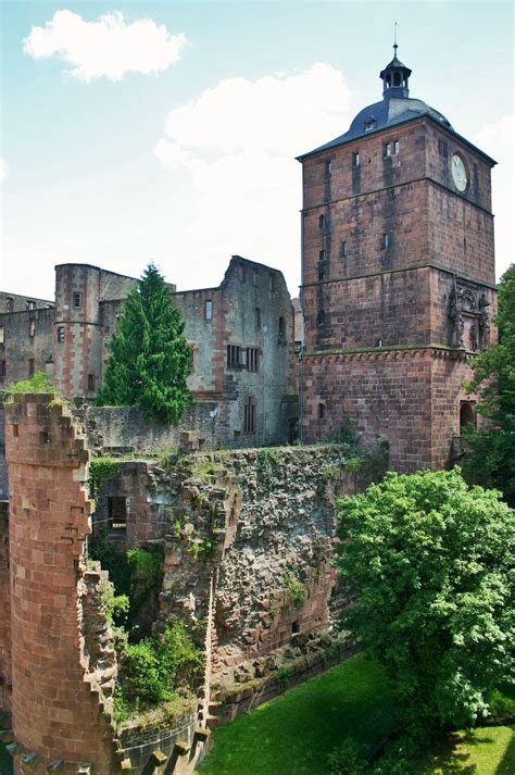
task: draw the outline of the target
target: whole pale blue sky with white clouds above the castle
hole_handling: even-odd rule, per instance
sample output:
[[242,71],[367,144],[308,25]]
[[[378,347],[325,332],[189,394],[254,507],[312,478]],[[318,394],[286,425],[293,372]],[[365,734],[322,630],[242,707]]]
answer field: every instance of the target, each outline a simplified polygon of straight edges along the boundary
[[0,287],[53,298],[53,267],[218,285],[233,254],[300,283],[301,165],[410,96],[498,162],[498,276],[513,261],[511,2],[1,0]]

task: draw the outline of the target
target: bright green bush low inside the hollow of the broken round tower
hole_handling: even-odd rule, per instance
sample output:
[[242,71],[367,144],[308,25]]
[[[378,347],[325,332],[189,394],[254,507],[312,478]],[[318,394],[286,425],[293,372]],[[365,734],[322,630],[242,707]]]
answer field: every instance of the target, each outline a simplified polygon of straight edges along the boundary
[[181,622],[166,627],[163,635],[139,643],[123,640],[118,647],[118,709],[145,710],[174,699],[177,687],[191,683],[203,666],[200,652],[191,643]]

